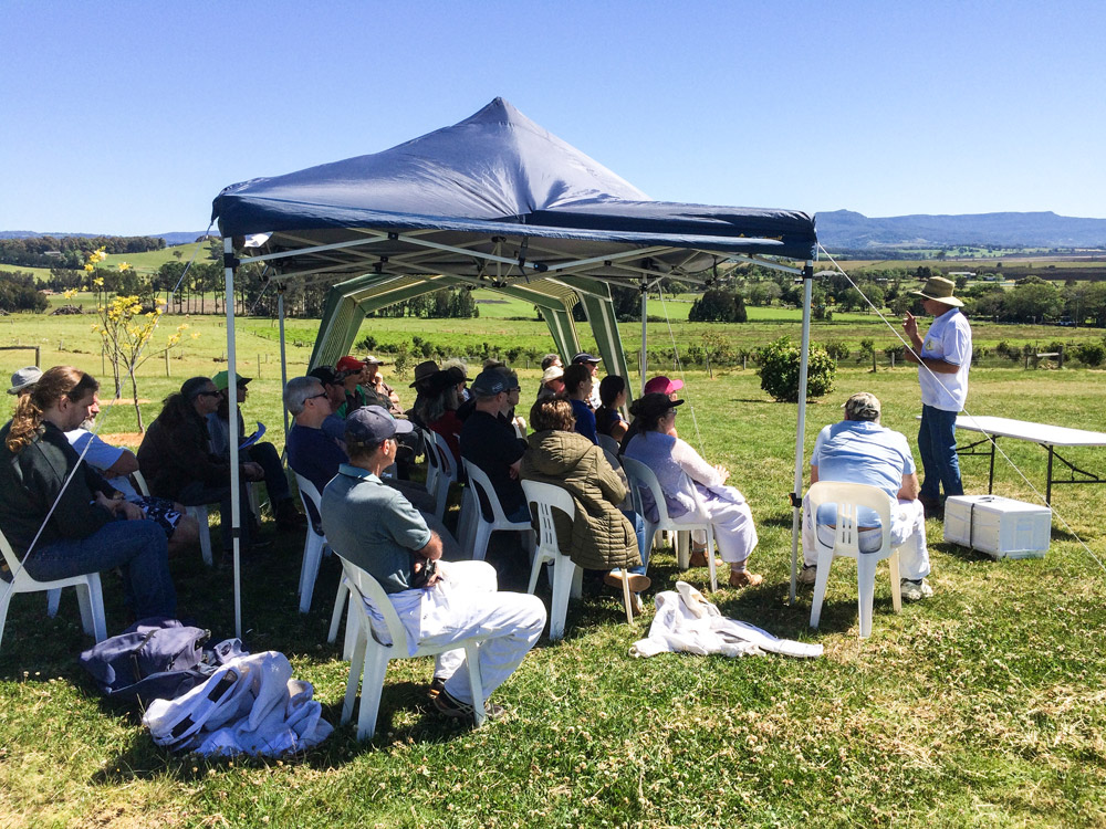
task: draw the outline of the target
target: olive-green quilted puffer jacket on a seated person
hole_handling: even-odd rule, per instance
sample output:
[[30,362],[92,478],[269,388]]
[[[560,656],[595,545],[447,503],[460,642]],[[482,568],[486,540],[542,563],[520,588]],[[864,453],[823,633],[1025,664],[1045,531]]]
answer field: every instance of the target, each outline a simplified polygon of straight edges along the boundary
[[522,479],[567,490],[576,506],[571,526],[563,513],[553,513],[561,552],[589,570],[641,564],[634,525],[617,507],[626,486],[603,450],[576,432],[535,432],[529,443]]

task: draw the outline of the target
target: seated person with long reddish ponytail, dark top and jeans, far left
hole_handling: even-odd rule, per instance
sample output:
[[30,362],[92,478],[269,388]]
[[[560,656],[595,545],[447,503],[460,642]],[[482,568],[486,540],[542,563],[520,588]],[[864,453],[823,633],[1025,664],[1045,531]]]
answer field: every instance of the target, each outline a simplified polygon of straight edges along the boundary
[[65,432],[97,405],[96,379],[45,371],[0,429],[0,531],[35,579],[122,567],[137,619],[176,615],[165,532],[80,460]]

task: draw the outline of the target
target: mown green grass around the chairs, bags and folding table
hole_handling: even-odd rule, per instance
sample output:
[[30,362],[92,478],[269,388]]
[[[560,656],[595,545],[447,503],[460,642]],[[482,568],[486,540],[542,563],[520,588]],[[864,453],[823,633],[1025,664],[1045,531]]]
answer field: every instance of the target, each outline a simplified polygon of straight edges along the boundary
[[[97,372],[95,340],[82,339],[87,322],[15,317],[10,336],[8,319],[0,322],[0,338],[38,338],[44,365],[73,361]],[[220,367],[218,322],[194,322],[202,336],[173,360],[171,378],[158,376],[164,363],[149,364],[144,397],[157,400],[185,377]],[[403,321],[371,325],[384,322]],[[520,323],[500,334],[489,322],[472,335],[521,335]],[[436,323],[435,334],[452,324]],[[306,336],[306,326],[294,326]],[[257,376],[262,357],[247,419],[264,420],[280,442],[273,332],[247,321],[238,342],[242,374]],[[56,351],[59,338],[82,350]],[[25,365],[17,354],[0,353],[4,371]],[[309,354],[307,346],[290,349],[293,371]],[[524,400],[536,384],[536,370],[523,371]],[[770,402],[752,370],[691,372],[688,388],[692,405],[678,428],[698,444],[698,423],[703,454],[733,471],[761,536],[753,563],[764,585],[722,589],[714,601],[776,634],[821,642],[825,658],[635,661],[627,649],[645,636],[651,613],[628,627],[614,597],[585,599],[570,607],[565,640],[543,640],[497,695],[512,709],[503,723],[468,732],[428,714],[430,663],[404,661],[389,670],[373,743],[356,743],[344,727],[292,760],[209,762],[156,748],[136,715],[98,697],[74,659],[87,640],[72,591],[53,620],[44,597],[21,596],[0,651],[0,825],[1106,825],[1104,577],[1073,535],[1056,523],[1046,558],[992,563],[945,544],[931,521],[932,599],[893,615],[881,570],[873,636],[860,642],[855,575],[843,562],[831,575],[822,629],[812,632],[808,590],[794,607],[786,604],[795,407]],[[846,366],[837,390],[808,409],[807,453],[817,428],[837,420],[841,403],[859,389],[878,395],[886,424],[912,441],[915,372]],[[972,374],[970,402],[978,413],[1100,429],[1102,390],[1100,371],[981,369]],[[147,414],[157,408],[150,403]],[[126,407],[106,417],[107,432],[134,429]],[[1043,489],[1041,450],[1002,445]],[[1072,460],[1106,468],[1100,451],[1073,451]],[[966,460],[964,473],[969,492],[985,491],[984,459]],[[1005,465],[995,490],[1032,500]],[[1062,486],[1054,497],[1102,558],[1103,490]],[[323,564],[312,612],[300,616],[301,552],[301,538],[282,536],[246,565],[246,643],[289,654],[296,675],[314,683],[324,716],[336,722],[347,665],[324,642],[338,568],[333,559]],[[216,639],[232,634],[229,573],[207,570],[198,554],[173,568],[180,613]],[[658,590],[680,575],[667,552],[650,564]],[[686,578],[701,587],[706,571]],[[105,574],[104,587],[115,631],[123,619],[118,580]]]

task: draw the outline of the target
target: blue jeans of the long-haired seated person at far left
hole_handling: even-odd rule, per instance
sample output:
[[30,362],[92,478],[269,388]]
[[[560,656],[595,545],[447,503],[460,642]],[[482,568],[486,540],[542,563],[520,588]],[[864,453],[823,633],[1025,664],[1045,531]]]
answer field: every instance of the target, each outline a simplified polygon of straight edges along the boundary
[[27,571],[51,581],[123,568],[126,604],[138,619],[177,615],[165,531],[154,521],[113,521],[86,538],[53,542],[31,553]]

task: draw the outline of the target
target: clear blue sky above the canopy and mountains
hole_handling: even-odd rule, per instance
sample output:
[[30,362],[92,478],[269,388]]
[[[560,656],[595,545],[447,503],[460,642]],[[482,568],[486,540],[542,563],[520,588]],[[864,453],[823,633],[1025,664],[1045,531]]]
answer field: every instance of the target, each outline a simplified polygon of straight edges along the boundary
[[497,95],[655,199],[1106,218],[1104,31],[1098,0],[0,0],[0,230],[199,230]]

